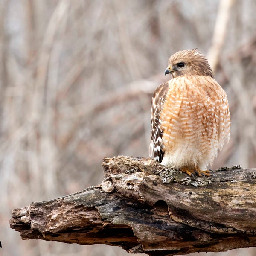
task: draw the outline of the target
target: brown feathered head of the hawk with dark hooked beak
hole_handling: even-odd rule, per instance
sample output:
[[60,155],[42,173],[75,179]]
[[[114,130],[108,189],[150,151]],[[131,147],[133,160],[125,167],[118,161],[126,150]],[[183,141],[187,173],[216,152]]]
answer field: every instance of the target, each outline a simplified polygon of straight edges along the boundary
[[168,64],[165,75],[171,73],[173,78],[188,75],[213,78],[212,68],[207,58],[197,48],[176,52],[169,58]]

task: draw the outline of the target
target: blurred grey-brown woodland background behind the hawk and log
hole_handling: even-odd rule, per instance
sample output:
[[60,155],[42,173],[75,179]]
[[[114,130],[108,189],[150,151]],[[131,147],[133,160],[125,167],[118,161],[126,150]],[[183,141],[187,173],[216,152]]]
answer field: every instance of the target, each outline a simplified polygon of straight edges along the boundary
[[178,50],[207,55],[228,95],[230,143],[213,168],[256,167],[255,0],[0,2],[1,255],[131,255],[22,241],[9,219],[32,201],[101,183],[103,157],[148,157],[151,97]]

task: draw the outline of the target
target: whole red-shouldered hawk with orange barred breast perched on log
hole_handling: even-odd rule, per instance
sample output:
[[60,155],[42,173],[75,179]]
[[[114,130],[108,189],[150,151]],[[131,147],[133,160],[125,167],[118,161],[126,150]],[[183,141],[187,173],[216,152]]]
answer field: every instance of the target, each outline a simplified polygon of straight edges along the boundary
[[197,49],[176,52],[152,98],[150,155],[187,174],[210,175],[207,166],[230,136],[227,95]]

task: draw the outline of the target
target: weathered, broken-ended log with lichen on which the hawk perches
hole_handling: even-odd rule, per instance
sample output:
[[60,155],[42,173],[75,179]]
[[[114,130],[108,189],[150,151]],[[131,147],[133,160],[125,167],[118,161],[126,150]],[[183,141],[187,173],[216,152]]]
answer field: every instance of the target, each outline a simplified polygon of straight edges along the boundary
[[105,158],[102,166],[101,185],[15,209],[11,227],[22,239],[152,256],[256,246],[256,169],[191,178],[146,158]]

